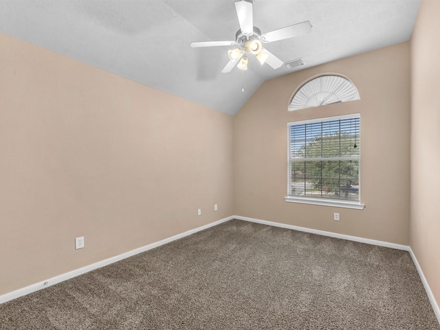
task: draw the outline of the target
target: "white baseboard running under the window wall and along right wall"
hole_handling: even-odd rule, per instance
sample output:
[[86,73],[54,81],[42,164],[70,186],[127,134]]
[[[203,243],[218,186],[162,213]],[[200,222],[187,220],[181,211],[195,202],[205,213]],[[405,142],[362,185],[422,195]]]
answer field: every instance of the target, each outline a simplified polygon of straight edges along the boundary
[[234,217],[232,217],[232,219],[239,219],[239,220],[243,220],[243,221],[250,221],[250,222],[254,222],[254,223],[261,223],[263,225],[273,225],[274,227],[280,227],[280,228],[286,228],[286,229],[293,229],[293,230],[298,230],[300,232],[309,232],[311,234],[318,234],[318,235],[322,235],[322,236],[329,236],[329,237],[334,237],[336,239],[347,239],[349,241],[355,241],[355,242],[360,242],[360,243],[367,243],[367,244],[371,244],[371,245],[379,245],[379,246],[384,246],[385,248],[393,248],[393,249],[397,249],[397,250],[404,250],[404,251],[408,251],[412,261],[415,264],[415,267],[417,268],[417,272],[419,272],[419,276],[421,278],[421,282],[423,283],[423,287],[425,287],[425,291],[426,294],[428,295],[428,298],[430,300],[430,303],[432,305],[432,309],[434,309],[434,314],[435,316],[437,316],[437,320],[439,321],[440,324],[440,309],[439,309],[439,305],[437,305],[437,301],[434,298],[434,295],[432,294],[432,291],[428,285],[428,282],[426,281],[425,275],[423,275],[423,272],[421,270],[421,267],[419,265],[419,262],[417,261],[414,252],[412,252],[412,249],[410,248],[410,246],[408,245],[400,245],[400,244],[395,244],[395,243],[388,243],[388,242],[384,242],[384,241],[376,241],[375,239],[364,239],[362,237],[358,237],[358,236],[350,236],[350,235],[344,235],[344,234],[337,234],[336,232],[325,232],[323,230],[316,230],[316,229],[310,229],[310,228],[305,228],[305,227],[298,227],[296,225],[287,225],[285,223],[278,223],[278,222],[272,222],[272,221],[266,221],[266,220],[260,220],[260,219],[253,219],[253,218],[248,218],[248,217],[240,217],[238,215],[235,215]]

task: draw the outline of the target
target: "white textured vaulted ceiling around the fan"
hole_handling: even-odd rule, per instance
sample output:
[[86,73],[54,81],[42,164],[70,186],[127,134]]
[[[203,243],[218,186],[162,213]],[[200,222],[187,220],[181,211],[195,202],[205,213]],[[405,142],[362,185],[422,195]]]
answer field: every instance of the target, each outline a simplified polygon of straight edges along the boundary
[[265,44],[284,62],[302,57],[302,67],[250,58],[244,73],[220,73],[232,47],[189,47],[235,39],[233,0],[0,0],[0,32],[233,115],[267,79],[408,41],[420,1],[256,0],[263,33],[302,21],[313,28]]

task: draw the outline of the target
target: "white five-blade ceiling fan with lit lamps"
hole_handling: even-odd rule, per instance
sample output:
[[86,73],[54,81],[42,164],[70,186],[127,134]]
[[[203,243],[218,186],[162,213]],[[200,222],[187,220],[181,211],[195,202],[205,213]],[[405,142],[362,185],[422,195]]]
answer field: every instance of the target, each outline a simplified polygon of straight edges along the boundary
[[289,39],[294,36],[302,36],[311,31],[311,23],[305,21],[261,34],[260,29],[254,26],[252,15],[254,0],[240,0],[234,3],[240,24],[240,29],[235,34],[235,41],[194,41],[190,43],[190,46],[195,48],[237,45],[237,48],[228,51],[230,61],[221,70],[223,74],[231,72],[235,66],[241,70],[248,69],[248,54],[254,54],[261,65],[267,63],[272,68],[278,69],[284,62],[268,50],[265,50],[261,43],[272,43],[273,41]]

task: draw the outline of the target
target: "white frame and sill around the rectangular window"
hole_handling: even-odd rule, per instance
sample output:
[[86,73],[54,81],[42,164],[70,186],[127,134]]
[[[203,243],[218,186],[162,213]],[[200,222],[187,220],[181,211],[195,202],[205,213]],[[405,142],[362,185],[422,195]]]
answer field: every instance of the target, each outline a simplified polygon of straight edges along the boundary
[[[320,197],[305,197],[305,196],[294,196],[289,195],[290,189],[291,189],[291,183],[292,183],[292,160],[290,155],[290,127],[301,125],[301,124],[314,124],[316,122],[328,122],[332,120],[344,120],[348,118],[359,118],[360,120],[360,113],[353,113],[350,115],[338,115],[333,117],[327,117],[327,118],[316,118],[312,120],[302,120],[298,122],[288,122],[287,123],[287,196],[284,197],[285,201],[292,202],[292,203],[305,203],[305,204],[313,204],[313,205],[320,205],[320,206],[335,206],[339,208],[354,208],[357,210],[363,210],[365,205],[360,202],[360,159],[361,155],[359,155],[359,201],[347,201],[343,199],[327,199],[327,198],[320,198]],[[360,144],[360,141],[358,142]],[[349,159],[349,158],[347,158]],[[328,160],[331,160],[329,158]]]

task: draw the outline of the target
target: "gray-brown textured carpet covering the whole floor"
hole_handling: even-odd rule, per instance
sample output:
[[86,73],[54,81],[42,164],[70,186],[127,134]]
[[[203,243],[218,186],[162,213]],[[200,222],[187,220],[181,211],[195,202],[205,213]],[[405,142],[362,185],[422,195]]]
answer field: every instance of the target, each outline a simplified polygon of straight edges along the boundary
[[232,220],[0,305],[0,329],[430,329],[408,252]]

